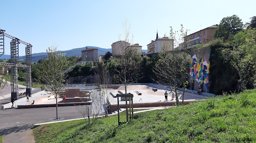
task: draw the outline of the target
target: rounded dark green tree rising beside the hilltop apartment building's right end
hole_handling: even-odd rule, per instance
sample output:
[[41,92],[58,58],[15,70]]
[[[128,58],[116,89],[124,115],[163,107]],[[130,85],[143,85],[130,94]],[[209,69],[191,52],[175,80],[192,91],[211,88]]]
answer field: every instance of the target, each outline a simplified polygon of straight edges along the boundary
[[217,29],[215,30],[215,38],[223,38],[227,40],[230,35],[235,35],[243,29],[243,22],[237,15],[224,17]]

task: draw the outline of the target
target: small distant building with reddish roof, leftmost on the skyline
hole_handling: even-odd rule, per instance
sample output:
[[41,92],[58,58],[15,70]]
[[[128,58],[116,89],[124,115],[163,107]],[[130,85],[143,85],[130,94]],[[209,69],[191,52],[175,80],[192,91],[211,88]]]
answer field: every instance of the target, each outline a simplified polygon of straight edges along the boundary
[[98,49],[88,48],[82,50],[82,61],[96,61],[98,62]]

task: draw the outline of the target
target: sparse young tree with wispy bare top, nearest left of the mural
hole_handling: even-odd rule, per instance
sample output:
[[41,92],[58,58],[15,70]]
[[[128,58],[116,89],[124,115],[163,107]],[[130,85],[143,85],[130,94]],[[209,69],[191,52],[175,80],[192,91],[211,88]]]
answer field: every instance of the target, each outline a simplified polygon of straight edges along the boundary
[[[177,35],[179,40],[177,40]],[[173,45],[177,46],[179,42],[184,43],[185,38],[183,25],[181,25],[180,34],[178,31],[174,32],[170,27],[170,39],[173,39]],[[174,87],[177,105],[179,105],[178,88],[183,89],[182,104],[184,101],[184,93],[188,84],[189,60],[190,56],[186,53],[186,46],[183,51],[175,49],[169,52],[163,51],[159,53],[159,60],[153,69],[157,76],[156,82]]]

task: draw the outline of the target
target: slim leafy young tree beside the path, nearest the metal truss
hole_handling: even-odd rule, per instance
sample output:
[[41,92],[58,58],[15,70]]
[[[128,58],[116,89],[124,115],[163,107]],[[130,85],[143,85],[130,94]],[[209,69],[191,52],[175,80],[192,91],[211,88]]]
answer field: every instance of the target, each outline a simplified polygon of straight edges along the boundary
[[40,71],[40,81],[42,81],[42,90],[54,93],[56,100],[56,120],[58,120],[58,97],[64,87],[66,73],[63,72],[68,68],[67,58],[63,54],[59,54],[56,51],[56,47],[49,47],[46,50],[48,53],[48,59],[46,57],[42,62],[42,70]]

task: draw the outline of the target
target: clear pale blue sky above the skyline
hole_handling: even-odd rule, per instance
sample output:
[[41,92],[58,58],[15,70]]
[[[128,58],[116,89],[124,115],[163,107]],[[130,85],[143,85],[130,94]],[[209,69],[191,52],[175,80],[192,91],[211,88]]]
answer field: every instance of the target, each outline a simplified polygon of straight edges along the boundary
[[[168,36],[169,26],[188,34],[219,24],[226,16],[238,15],[243,23],[256,16],[256,1],[18,1],[0,0],[0,28],[31,43],[32,53],[46,52],[49,46],[69,50],[84,46],[111,48],[123,34],[123,21],[131,24],[133,43],[142,49],[158,36]],[[10,40],[5,40],[10,54]],[[19,44],[19,55],[25,45]]]

